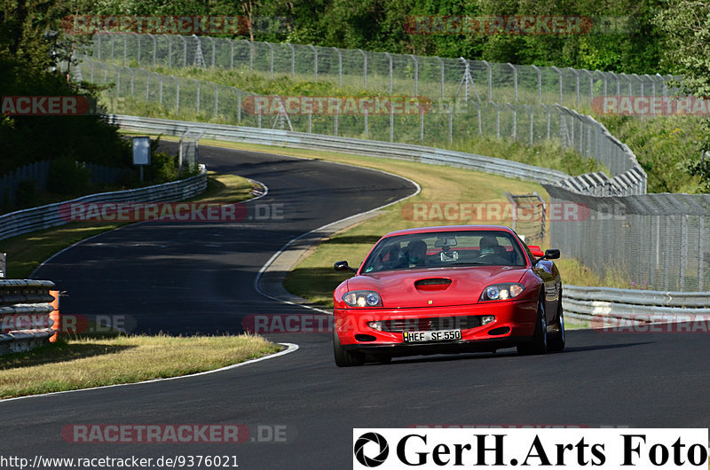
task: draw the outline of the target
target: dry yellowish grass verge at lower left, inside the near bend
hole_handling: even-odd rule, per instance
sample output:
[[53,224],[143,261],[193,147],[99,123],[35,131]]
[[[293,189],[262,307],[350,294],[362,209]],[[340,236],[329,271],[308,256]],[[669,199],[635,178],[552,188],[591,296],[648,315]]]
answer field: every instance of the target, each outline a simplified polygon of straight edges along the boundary
[[60,339],[0,356],[0,398],[210,371],[278,352],[258,336],[118,336]]

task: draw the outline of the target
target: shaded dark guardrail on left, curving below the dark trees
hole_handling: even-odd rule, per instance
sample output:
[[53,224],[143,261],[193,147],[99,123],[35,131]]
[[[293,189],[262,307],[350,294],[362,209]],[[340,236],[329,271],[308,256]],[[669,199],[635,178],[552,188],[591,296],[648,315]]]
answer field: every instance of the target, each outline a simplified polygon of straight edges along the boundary
[[59,213],[59,208],[68,203],[78,202],[157,202],[162,200],[185,200],[201,194],[207,188],[207,169],[202,167],[200,175],[165,184],[155,184],[129,191],[101,192],[75,200],[48,204],[39,208],[28,208],[0,215],[0,239],[8,239],[29,231],[43,230],[67,223]]

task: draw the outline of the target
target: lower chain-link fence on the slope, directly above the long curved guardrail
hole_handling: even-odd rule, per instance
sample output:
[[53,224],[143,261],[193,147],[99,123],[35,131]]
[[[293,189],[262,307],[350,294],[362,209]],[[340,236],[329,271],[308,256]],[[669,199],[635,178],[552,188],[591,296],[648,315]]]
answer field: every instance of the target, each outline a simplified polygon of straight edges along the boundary
[[83,59],[73,68],[73,74],[76,79],[113,83],[106,98],[109,106],[118,106],[119,113],[130,113],[131,103],[142,102],[157,105],[162,117],[431,146],[453,145],[480,136],[505,137],[529,145],[554,141],[602,163],[611,176],[628,172],[638,176],[628,182],[619,179],[618,184],[609,186],[612,193],[645,192],[645,173],[634,153],[603,124],[564,106],[457,100],[427,102],[426,106],[416,102],[414,113],[404,114],[398,112],[398,106],[383,106],[379,111],[375,108],[371,114],[367,106],[361,114],[339,114],[340,105],[333,106],[332,113],[315,114],[310,108],[307,114],[288,114],[289,97],[274,96],[268,98],[277,105],[277,112],[264,113],[254,106],[254,98],[258,98],[254,93],[140,67]]

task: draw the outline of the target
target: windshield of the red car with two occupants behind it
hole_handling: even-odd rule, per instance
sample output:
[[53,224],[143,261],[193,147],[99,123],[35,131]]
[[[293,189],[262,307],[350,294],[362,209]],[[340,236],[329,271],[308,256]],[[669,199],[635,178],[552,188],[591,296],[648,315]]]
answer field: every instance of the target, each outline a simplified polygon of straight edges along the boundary
[[416,233],[380,241],[362,273],[476,265],[525,266],[525,255],[505,231]]

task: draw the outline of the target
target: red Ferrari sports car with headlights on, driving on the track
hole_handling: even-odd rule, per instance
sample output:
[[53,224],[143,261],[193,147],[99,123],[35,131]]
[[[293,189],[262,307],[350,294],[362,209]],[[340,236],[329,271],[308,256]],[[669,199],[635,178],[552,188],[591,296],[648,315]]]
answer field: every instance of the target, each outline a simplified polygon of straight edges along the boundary
[[528,247],[508,227],[393,231],[333,293],[335,364],[392,356],[564,349],[560,252]]

